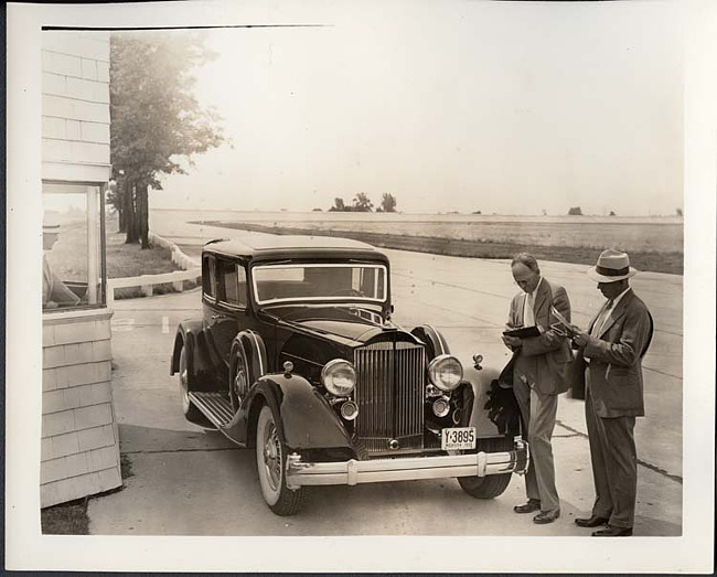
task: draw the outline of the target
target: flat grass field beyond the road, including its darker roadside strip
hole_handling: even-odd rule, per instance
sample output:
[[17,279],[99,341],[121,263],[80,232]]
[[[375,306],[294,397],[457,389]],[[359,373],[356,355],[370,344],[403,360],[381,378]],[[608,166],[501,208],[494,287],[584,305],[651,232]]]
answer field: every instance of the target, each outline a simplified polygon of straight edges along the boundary
[[231,221],[196,224],[272,234],[343,236],[385,248],[474,258],[511,258],[529,252],[538,259],[585,265],[595,264],[604,248],[618,248],[628,252],[640,270],[682,275],[684,267],[683,224],[674,217],[405,217],[374,213],[327,213],[303,218],[285,213],[234,216]]

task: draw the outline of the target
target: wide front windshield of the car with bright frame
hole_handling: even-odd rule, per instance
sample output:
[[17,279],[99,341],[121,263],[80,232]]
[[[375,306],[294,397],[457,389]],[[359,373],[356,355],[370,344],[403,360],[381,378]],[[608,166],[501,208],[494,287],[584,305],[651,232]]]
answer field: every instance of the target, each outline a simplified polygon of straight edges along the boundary
[[254,267],[259,304],[285,300],[386,300],[384,265],[281,264]]

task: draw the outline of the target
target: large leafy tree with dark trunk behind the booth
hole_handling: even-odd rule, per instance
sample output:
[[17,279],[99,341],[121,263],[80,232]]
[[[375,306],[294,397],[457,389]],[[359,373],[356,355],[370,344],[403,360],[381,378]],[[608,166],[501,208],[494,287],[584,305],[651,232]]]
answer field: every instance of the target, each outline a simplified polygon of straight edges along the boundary
[[150,188],[185,173],[192,157],[224,141],[218,116],[194,96],[196,66],[214,55],[195,32],[121,32],[110,39],[110,202],[127,243],[149,248]]

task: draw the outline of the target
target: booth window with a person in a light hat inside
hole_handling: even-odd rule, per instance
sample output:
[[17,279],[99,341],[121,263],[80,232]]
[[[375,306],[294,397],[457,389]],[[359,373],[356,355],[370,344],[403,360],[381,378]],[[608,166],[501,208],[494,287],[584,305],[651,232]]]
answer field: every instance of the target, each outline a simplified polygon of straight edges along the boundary
[[42,184],[42,308],[105,304],[105,211],[100,183]]

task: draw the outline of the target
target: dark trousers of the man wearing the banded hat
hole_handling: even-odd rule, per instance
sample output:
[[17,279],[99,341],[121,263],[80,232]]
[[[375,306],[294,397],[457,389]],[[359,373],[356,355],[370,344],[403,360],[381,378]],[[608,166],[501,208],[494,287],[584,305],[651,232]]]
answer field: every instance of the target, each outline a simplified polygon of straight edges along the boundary
[[592,514],[608,519],[613,527],[631,528],[638,496],[638,456],[634,417],[602,418],[595,412],[587,371],[585,417],[596,499]]

